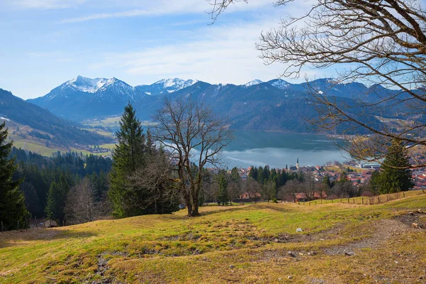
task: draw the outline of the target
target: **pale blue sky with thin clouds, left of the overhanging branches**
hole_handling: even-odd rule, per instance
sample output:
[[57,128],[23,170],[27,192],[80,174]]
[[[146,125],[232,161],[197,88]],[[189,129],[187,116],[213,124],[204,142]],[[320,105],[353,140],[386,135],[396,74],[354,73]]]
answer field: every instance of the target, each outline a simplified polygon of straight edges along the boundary
[[[272,80],[284,67],[259,58],[259,35],[307,8],[307,1],[275,7],[249,0],[211,24],[206,0],[0,0],[0,88],[30,99],[77,75],[132,86],[175,77]],[[327,72],[306,71],[316,78],[332,76]]]

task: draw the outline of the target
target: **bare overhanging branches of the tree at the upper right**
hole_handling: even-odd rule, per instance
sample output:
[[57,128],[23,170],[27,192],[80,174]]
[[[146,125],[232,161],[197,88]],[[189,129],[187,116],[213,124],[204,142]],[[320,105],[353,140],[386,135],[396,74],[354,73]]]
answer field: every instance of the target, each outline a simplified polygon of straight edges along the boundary
[[[212,19],[233,2],[214,1]],[[275,6],[290,2],[296,0],[277,0]],[[344,150],[354,158],[381,162],[395,139],[408,148],[426,146],[420,138],[426,127],[426,10],[421,1],[315,0],[304,15],[290,16],[262,33],[257,48],[267,64],[285,65],[285,77],[299,77],[304,67],[341,66],[333,84],[370,86],[365,94],[348,94],[351,103],[315,86],[310,92],[320,114],[311,121],[315,126],[365,134],[346,135]]]

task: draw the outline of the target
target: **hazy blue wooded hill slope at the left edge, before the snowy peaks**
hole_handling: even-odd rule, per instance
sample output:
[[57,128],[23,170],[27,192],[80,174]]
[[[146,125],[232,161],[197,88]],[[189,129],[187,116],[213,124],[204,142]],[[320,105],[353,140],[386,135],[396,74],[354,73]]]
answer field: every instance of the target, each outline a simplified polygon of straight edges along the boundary
[[50,155],[53,151],[79,149],[81,146],[110,143],[111,137],[82,130],[82,124],[61,119],[46,109],[0,89],[0,123],[6,121],[9,138],[31,150]]

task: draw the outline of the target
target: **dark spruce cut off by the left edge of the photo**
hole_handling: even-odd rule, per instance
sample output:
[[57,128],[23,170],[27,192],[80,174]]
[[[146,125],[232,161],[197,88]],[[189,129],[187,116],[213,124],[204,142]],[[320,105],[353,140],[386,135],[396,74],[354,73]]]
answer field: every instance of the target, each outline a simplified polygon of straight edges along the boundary
[[8,159],[12,142],[6,143],[8,129],[5,122],[0,124],[0,221],[4,229],[18,229],[26,226],[29,213],[25,199],[19,190],[21,180],[13,180],[17,165],[15,158]]

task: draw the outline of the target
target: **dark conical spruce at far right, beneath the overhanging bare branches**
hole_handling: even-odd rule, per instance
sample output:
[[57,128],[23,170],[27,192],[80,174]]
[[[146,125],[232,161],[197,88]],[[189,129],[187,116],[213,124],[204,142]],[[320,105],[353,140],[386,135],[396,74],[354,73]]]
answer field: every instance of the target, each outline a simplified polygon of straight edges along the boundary
[[395,139],[388,146],[385,160],[381,165],[379,193],[394,193],[410,190],[414,186],[411,172],[408,169],[407,151],[401,141]]

